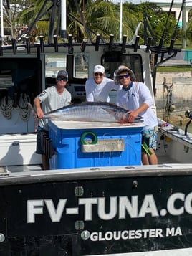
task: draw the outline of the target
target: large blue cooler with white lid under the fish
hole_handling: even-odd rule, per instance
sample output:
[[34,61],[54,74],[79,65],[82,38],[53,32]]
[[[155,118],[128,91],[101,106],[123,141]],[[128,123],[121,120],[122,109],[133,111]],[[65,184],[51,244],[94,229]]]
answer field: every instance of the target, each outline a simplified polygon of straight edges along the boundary
[[141,163],[140,123],[50,121],[50,169],[130,166]]

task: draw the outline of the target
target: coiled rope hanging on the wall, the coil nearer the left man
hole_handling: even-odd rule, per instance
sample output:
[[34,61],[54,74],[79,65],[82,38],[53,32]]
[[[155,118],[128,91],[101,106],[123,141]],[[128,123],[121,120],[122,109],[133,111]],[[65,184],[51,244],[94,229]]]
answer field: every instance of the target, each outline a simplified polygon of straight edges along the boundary
[[19,116],[21,120],[23,120],[24,122],[27,122],[30,117],[30,110],[27,104],[28,102],[30,102],[29,95],[27,95],[26,93],[21,93],[18,102]]

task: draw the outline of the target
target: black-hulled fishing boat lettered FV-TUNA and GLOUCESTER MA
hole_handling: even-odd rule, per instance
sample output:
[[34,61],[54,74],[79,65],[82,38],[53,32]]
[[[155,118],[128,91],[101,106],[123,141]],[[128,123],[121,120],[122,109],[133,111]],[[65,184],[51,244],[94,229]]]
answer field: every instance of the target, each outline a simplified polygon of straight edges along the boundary
[[[52,15],[64,1],[55,3]],[[126,63],[154,98],[156,67],[181,51],[174,38],[169,47],[163,38],[155,46],[152,37],[140,44],[138,35],[131,42],[95,38],[77,43],[69,34],[59,43],[54,35],[30,44],[25,35],[0,46],[0,255],[191,255],[191,110],[185,131],[159,119],[158,166],[140,163],[142,123],[49,121],[42,143],[51,168],[42,171],[27,103],[54,85],[58,70],[69,73],[74,103],[85,101],[97,64],[113,78]]]

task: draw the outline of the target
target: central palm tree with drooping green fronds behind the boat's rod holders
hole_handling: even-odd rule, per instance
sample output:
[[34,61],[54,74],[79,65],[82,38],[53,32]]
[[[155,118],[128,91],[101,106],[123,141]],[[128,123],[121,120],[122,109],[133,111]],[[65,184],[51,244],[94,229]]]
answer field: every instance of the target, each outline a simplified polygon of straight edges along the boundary
[[[72,19],[74,16],[77,19]],[[114,39],[119,40],[120,29],[120,11],[119,6],[112,4],[110,1],[87,1],[85,5],[85,20],[80,19],[80,14],[73,14],[68,26],[70,34],[74,34],[77,41],[87,38],[85,24],[90,29],[90,37],[95,40],[96,34],[100,34],[103,39],[109,39],[110,34],[114,34]],[[138,25],[138,19],[135,15],[123,11],[123,34],[133,37],[132,27]],[[94,33],[95,32],[95,33]]]

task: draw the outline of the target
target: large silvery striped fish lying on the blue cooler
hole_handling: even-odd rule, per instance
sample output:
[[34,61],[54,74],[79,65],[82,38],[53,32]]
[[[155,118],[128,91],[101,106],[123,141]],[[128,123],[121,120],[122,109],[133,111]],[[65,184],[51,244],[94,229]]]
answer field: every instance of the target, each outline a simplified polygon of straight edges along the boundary
[[[67,105],[44,115],[50,120],[80,120],[85,122],[128,123],[128,110],[111,103],[85,102]],[[137,116],[133,122],[141,122]]]

